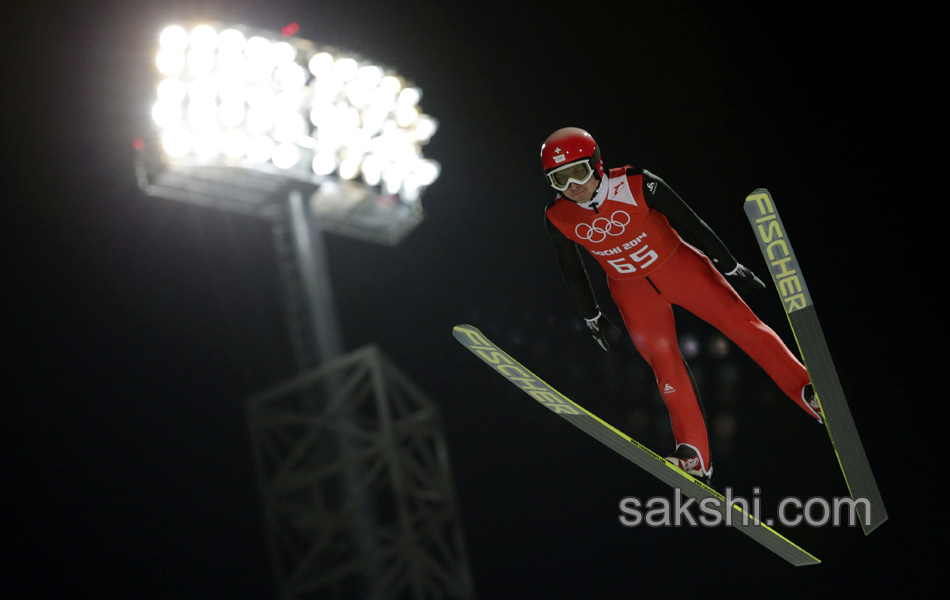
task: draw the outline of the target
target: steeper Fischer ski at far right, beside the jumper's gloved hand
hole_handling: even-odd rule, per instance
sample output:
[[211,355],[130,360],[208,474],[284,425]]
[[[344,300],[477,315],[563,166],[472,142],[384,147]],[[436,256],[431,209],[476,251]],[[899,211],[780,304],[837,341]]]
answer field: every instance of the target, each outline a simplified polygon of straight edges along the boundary
[[[880,490],[868,464],[864,446],[851,417],[838,373],[821,325],[815,313],[811,294],[805,285],[792,244],[779,217],[772,196],[766,189],[757,189],[745,199],[744,210],[749,224],[769,265],[772,280],[778,289],[785,314],[798,344],[799,352],[821,407],[822,420],[838,457],[845,483],[855,506],[859,499],[869,503],[867,510],[857,510],[865,535],[887,520],[887,511]],[[867,514],[865,514],[867,513]]]

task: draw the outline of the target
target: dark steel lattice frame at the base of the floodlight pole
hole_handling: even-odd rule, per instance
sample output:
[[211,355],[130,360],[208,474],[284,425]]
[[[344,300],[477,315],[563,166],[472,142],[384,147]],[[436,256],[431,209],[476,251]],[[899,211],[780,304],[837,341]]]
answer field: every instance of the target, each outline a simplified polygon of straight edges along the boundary
[[284,598],[473,598],[438,407],[367,346],[247,400]]

